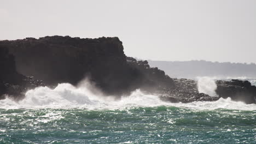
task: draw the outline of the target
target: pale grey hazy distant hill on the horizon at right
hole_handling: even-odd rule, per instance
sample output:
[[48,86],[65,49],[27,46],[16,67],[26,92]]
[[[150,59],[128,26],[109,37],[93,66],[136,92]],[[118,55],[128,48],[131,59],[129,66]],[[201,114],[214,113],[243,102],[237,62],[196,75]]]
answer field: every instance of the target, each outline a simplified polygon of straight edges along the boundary
[[197,76],[256,77],[256,64],[208,62],[208,61],[148,61],[150,67],[158,67],[170,77],[194,79]]

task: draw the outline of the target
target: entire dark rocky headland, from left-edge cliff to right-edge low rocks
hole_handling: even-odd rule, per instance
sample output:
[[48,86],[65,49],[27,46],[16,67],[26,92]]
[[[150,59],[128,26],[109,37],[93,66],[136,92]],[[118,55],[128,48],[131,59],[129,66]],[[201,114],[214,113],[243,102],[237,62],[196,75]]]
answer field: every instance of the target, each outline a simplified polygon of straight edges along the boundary
[[256,88],[248,81],[217,81],[219,98],[199,93],[196,81],[172,79],[164,71],[151,68],[147,61],[127,57],[117,37],[3,40],[0,56],[0,95],[14,98],[22,98],[29,88],[54,87],[63,82],[77,85],[86,77],[104,94],[117,97],[140,88],[173,103],[214,101],[220,97],[255,103]]

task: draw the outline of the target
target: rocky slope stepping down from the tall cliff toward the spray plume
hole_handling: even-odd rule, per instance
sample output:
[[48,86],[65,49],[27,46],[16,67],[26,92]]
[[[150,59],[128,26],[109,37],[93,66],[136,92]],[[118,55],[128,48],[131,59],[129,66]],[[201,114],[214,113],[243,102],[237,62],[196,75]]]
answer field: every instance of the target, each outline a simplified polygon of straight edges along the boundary
[[188,79],[171,79],[165,72],[158,68],[150,68],[147,61],[136,61],[135,58],[127,57],[127,63],[139,71],[144,92],[160,95],[164,101],[172,103],[190,103],[192,101],[214,101],[217,97],[199,93],[197,82]]

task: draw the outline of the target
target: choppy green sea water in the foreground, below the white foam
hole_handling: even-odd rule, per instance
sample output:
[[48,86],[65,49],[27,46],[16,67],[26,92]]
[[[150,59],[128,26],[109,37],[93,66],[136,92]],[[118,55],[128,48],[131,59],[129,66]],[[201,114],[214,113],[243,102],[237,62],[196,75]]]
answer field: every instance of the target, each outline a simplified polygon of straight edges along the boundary
[[1,109],[0,143],[255,143],[256,111]]

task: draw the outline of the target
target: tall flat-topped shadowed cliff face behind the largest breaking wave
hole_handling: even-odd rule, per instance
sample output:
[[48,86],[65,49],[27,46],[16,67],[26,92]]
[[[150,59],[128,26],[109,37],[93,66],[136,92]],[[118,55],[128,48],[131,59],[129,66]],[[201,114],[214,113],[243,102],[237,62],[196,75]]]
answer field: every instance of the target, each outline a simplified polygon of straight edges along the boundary
[[157,83],[172,82],[157,68],[147,69],[141,62],[127,63],[122,42],[116,37],[53,36],[5,40],[0,44],[15,56],[19,73],[34,76],[47,85],[63,82],[76,85],[89,77],[107,95],[122,95],[137,88],[152,89],[158,87]]

